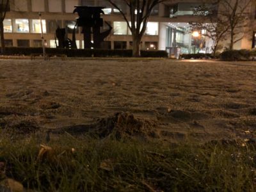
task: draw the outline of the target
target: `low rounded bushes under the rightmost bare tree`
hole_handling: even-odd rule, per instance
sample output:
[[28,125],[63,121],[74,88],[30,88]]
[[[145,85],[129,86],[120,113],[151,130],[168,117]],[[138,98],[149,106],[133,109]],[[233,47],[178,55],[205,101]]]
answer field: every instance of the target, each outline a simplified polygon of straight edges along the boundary
[[220,54],[220,59],[223,61],[250,61],[255,60],[256,50],[228,50]]

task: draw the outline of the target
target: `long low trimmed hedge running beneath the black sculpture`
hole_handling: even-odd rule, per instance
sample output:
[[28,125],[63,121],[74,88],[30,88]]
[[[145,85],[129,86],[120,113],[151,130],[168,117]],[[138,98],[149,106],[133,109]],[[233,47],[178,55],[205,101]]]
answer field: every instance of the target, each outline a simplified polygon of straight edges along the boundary
[[[132,57],[132,50],[129,49],[60,49],[46,48],[47,54],[66,54],[68,57]],[[41,47],[6,47],[6,55],[25,55],[42,53]],[[166,51],[141,51],[141,57],[145,58],[166,58]]]

